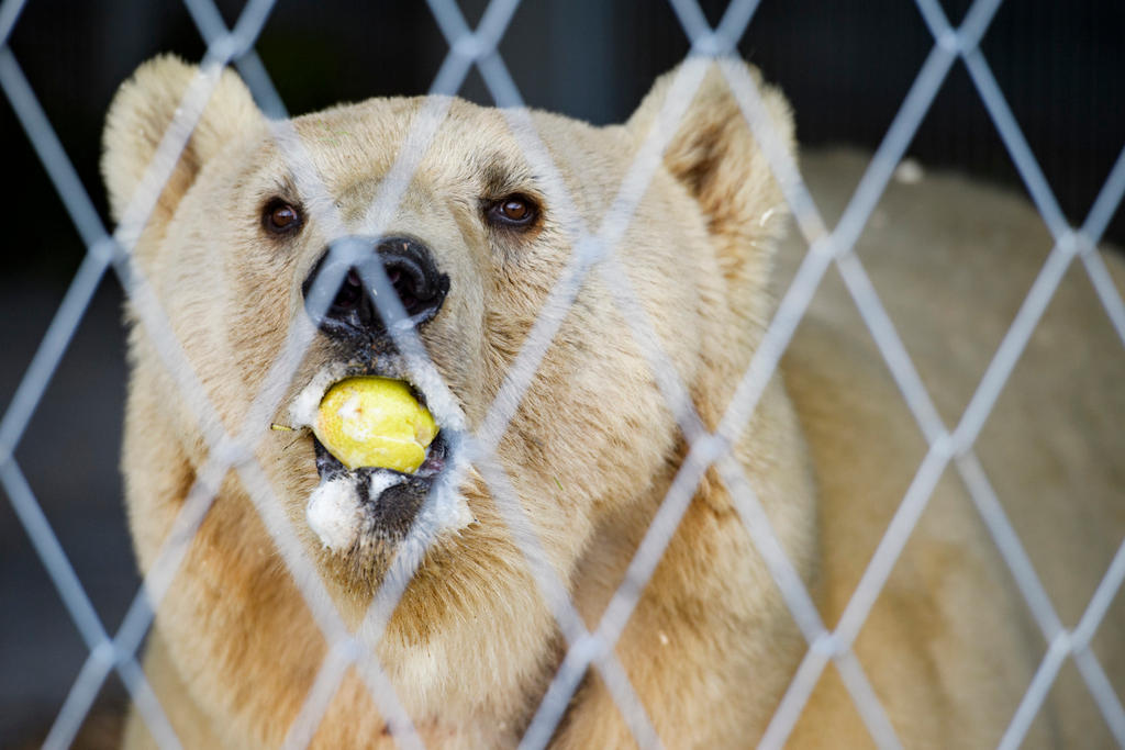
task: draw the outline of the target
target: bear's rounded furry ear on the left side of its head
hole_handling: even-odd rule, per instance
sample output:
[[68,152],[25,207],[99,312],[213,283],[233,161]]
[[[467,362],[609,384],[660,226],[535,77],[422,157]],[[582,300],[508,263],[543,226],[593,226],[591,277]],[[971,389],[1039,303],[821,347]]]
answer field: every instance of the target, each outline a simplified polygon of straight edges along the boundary
[[[141,65],[118,89],[106,116],[101,157],[114,220],[122,220],[181,99],[199,72],[196,65],[162,55]],[[231,138],[261,123],[264,117],[245,84],[233,71],[222,71],[191,137],[179,154],[152,220],[170,218],[202,165]]]

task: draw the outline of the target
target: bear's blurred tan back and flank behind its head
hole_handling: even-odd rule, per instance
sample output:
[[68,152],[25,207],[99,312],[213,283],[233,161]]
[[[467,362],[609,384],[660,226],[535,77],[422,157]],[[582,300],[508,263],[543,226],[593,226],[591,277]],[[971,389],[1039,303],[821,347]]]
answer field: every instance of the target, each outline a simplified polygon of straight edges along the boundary
[[[863,164],[847,153],[803,160],[828,218],[838,216]],[[1024,200],[942,174],[892,182],[856,243],[950,432],[973,403],[1051,247],[1046,227]],[[778,292],[803,252],[799,238],[786,243]],[[1125,288],[1125,264],[1112,252],[1101,257],[1117,288]],[[836,625],[910,490],[908,507],[925,509],[856,641],[908,746],[945,732],[974,746],[996,744],[1047,649],[958,469],[986,509],[999,503],[1020,543],[1008,553],[1026,553],[1062,626],[1077,627],[1125,533],[1123,363],[1122,338],[1076,259],[994,405],[989,408],[987,392],[978,396],[961,433],[975,434],[972,453],[930,473],[942,457],[935,452],[927,461],[922,430],[840,274],[835,268],[826,273],[784,365],[821,493],[821,613]],[[937,477],[922,506],[933,486],[926,479]],[[901,539],[898,532],[894,537]],[[1122,632],[1125,606],[1118,603],[1092,640],[1115,685],[1125,676]],[[939,687],[919,687],[919,672],[936,677],[928,684]],[[843,696],[831,675],[813,701],[829,706]],[[926,712],[927,704],[953,708],[944,712],[951,721],[928,725],[942,712]],[[897,714],[914,719],[899,725]],[[863,731],[854,710],[845,708],[839,720]],[[1113,743],[1072,662],[1028,739],[1033,746]]]

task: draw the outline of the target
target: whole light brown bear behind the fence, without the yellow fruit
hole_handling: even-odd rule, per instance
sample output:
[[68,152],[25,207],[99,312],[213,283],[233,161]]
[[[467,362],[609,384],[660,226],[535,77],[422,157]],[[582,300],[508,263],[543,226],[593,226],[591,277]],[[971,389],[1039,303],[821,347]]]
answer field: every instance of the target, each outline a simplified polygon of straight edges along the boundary
[[[195,74],[159,58],[118,93],[104,161],[118,217]],[[222,422],[183,396],[182,373],[169,372],[166,352],[154,342],[158,328],[133,308],[124,471],[142,568],[153,564],[208,461],[205,431],[243,430],[290,327],[304,329],[312,342],[277,410],[248,433],[269,484],[264,507],[284,513],[351,629],[395,552],[415,543],[420,527],[434,533],[375,652],[428,747],[514,746],[565,643],[482,467],[453,471],[458,446],[439,440],[416,476],[349,471],[307,431],[273,432],[270,423],[299,424],[309,404],[315,409],[332,381],[348,374],[425,380],[412,377],[413,365],[388,336],[364,291],[368,277],[352,273],[331,300],[318,298],[322,314],[313,322],[312,280],[330,244],[352,235],[387,270],[448,386],[451,398],[443,401],[435,383],[413,382],[438,426],[450,434],[479,430],[572,259],[575,219],[596,228],[613,218],[608,211],[668,88],[668,78],[657,82],[621,126],[530,112],[569,206],[504,114],[452,100],[396,210],[379,236],[369,236],[368,209],[426,100],[370,100],[292,120],[302,159],[315,171],[309,180],[291,154],[282,155],[245,87],[224,73],[135,251]],[[784,100],[763,91],[774,127],[792,147]],[[909,217],[911,198],[897,200],[896,210]],[[1026,208],[1011,210],[1028,216]],[[785,223],[767,160],[712,69],[613,251],[645,320],[629,319],[636,310],[615,305],[619,290],[595,268],[496,448],[541,561],[591,629],[687,452],[633,331],[651,326],[704,426],[716,428],[774,309],[770,275]],[[956,245],[938,247],[901,242],[911,225],[894,226],[898,234],[873,229],[864,242],[874,249],[861,255],[867,253],[872,278],[952,428],[1042,261],[1037,250],[1050,243],[1033,232],[1036,252],[990,254],[976,252],[988,244],[988,225],[965,227]],[[1119,266],[1107,261],[1119,283]],[[832,627],[925,443],[829,273],[731,452]],[[1081,280],[1068,277],[1074,283]],[[1028,367],[1017,369],[978,448],[1068,626],[1081,616],[1125,526],[1120,341],[1092,292],[1076,289],[1048,311],[1052,347],[1033,342]],[[430,496],[453,475],[460,479],[453,491]],[[222,481],[159,607],[145,656],[189,748],[280,744],[327,653],[255,510],[248,477],[231,471]],[[317,516],[310,498],[331,482],[339,482],[333,513]],[[439,500],[443,509],[435,509]],[[429,525],[418,521],[426,513]],[[1118,690],[1123,622],[1118,605],[1094,641]],[[755,744],[807,649],[728,488],[709,470],[614,650],[660,742]],[[979,513],[947,470],[855,643],[891,726],[907,747],[994,744],[1045,650]],[[834,666],[790,739],[799,747],[872,744]],[[151,741],[134,715],[126,743]],[[1073,667],[1064,668],[1029,741],[1110,741]],[[394,742],[367,684],[349,670],[314,744]],[[631,743],[592,670],[551,747]]]

